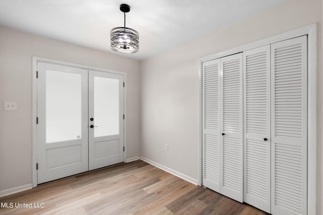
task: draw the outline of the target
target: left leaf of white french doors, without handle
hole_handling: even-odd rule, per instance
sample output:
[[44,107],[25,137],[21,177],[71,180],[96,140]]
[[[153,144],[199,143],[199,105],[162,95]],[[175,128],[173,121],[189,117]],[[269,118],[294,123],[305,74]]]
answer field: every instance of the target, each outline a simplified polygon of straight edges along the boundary
[[88,71],[38,62],[38,184],[88,170]]

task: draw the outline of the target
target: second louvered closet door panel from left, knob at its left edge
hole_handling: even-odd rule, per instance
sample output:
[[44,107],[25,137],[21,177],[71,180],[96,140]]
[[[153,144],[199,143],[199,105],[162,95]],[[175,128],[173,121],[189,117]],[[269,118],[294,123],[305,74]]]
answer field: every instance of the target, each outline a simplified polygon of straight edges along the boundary
[[221,180],[223,195],[243,201],[242,53],[221,58]]

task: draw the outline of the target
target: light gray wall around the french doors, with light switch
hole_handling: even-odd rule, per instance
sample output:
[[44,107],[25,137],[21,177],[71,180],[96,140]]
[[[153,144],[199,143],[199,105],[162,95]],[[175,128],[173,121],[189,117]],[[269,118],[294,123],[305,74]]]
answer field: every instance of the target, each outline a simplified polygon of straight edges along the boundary
[[0,191],[32,183],[32,56],[127,73],[127,158],[140,155],[139,61],[0,26]]

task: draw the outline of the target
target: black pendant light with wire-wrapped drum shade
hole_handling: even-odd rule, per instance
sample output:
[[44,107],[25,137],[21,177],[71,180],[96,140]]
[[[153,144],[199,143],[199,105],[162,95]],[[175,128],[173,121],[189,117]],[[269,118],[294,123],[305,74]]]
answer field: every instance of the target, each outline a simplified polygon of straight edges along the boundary
[[125,15],[125,25],[111,30],[111,49],[121,53],[135,53],[139,50],[139,34],[134,29],[126,28],[126,13],[130,11],[130,6],[122,4],[120,11]]

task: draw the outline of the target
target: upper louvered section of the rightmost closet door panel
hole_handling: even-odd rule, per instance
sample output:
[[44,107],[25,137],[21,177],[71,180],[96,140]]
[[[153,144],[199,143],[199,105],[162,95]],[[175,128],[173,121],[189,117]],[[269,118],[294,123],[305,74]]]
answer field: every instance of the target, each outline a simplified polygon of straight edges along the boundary
[[[302,92],[290,95],[292,87],[302,88],[302,49],[301,44],[275,50],[275,134],[288,138],[302,138],[302,110],[292,107],[302,105]],[[279,73],[276,74],[276,69]],[[277,93],[279,91],[279,93]],[[283,94],[283,95],[282,95]],[[289,108],[290,107],[290,108]],[[291,123],[284,116],[292,115],[297,119]],[[296,123],[297,127],[292,126]]]

